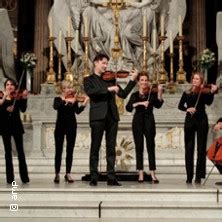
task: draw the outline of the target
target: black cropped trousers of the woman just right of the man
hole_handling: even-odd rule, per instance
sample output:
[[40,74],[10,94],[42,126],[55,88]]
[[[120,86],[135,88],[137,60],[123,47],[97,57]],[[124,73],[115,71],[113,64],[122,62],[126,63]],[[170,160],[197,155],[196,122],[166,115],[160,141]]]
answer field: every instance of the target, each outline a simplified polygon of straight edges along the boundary
[[156,126],[153,114],[147,116],[134,116],[133,138],[136,148],[136,168],[143,170],[144,136],[146,138],[146,148],[148,152],[149,169],[156,170],[155,157],[155,135]]

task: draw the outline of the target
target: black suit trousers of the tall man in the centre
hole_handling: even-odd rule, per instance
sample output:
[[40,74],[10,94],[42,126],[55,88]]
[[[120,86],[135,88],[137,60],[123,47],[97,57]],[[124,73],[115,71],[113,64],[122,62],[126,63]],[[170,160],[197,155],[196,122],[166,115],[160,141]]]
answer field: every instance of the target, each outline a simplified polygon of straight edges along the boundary
[[107,162],[107,178],[115,179],[115,160],[116,160],[116,136],[118,122],[108,112],[104,120],[91,121],[91,149],[90,149],[90,175],[91,180],[98,180],[98,162],[99,150],[105,131],[106,139],[106,162]]

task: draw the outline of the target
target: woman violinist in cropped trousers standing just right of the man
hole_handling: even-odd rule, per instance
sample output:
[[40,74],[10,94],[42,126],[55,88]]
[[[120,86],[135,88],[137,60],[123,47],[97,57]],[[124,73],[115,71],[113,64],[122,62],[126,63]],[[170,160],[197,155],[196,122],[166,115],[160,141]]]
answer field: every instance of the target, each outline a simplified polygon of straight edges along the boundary
[[163,104],[162,86],[149,84],[148,76],[141,73],[138,75],[138,87],[139,90],[131,95],[126,105],[128,112],[132,112],[132,110],[135,109],[132,130],[136,146],[136,168],[139,171],[138,182],[144,181],[143,150],[145,136],[152,183],[159,183],[155,175],[156,126],[153,107],[160,108]]

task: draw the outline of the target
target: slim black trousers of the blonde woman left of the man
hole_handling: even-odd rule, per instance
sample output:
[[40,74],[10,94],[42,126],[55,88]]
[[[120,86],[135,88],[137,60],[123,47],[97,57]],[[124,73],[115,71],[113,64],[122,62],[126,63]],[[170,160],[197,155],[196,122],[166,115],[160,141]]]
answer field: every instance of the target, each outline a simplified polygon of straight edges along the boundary
[[60,131],[55,130],[55,173],[60,173],[61,161],[62,161],[62,151],[63,143],[66,135],[66,173],[71,172],[72,161],[73,161],[73,151],[76,141],[76,129],[73,131]]

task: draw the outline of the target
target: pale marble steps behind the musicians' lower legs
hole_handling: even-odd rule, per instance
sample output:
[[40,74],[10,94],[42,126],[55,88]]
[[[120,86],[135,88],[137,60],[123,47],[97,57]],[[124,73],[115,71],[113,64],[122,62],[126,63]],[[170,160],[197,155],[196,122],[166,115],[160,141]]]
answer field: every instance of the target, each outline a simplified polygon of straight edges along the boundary
[[[185,178],[184,159],[157,159],[157,175],[161,178]],[[18,174],[18,160],[17,157],[13,159],[14,172]],[[27,157],[28,170],[31,178],[53,178],[54,177],[54,158],[47,157]],[[212,168],[212,163],[207,161],[207,172]],[[99,164],[99,171],[106,171],[106,162],[102,161]],[[118,166],[117,170],[120,169]],[[135,161],[132,161],[129,171],[136,171]],[[148,166],[145,164],[144,169],[148,172]],[[64,174],[65,160],[62,160],[61,173]],[[77,180],[80,180],[84,174],[89,172],[88,159],[73,160],[72,172]],[[0,175],[5,175],[5,159],[0,156]],[[210,178],[219,179],[221,175],[214,168]]]

